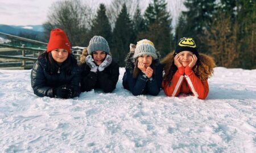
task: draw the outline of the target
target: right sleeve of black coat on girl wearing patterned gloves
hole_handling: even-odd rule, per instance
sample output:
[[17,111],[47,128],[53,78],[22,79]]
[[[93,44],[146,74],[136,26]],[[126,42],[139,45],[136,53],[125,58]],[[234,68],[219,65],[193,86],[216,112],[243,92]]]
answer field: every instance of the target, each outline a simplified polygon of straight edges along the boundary
[[110,68],[111,74],[106,73],[106,71],[98,71],[98,79],[100,82],[100,88],[105,92],[112,92],[119,78],[119,66],[117,63],[113,64]]

